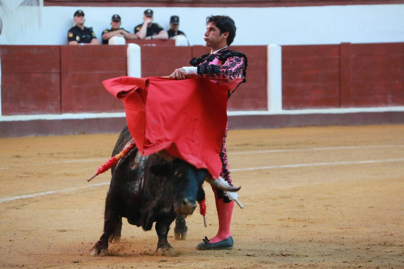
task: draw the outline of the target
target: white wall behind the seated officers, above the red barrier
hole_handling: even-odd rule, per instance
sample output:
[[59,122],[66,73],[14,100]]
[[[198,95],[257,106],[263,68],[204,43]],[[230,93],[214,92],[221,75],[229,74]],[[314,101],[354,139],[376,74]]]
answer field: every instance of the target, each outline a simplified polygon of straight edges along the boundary
[[[12,43],[0,35],[0,44],[67,44],[67,31],[74,25],[73,13],[79,8],[86,14],[85,25],[92,26],[99,39],[114,13],[122,17],[122,26],[132,32],[141,23],[145,10],[144,7],[45,6],[41,29],[32,26]],[[179,15],[180,30],[187,34],[192,45],[204,44],[206,16],[223,14],[236,21],[234,45],[404,42],[404,4],[152,9],[155,22],[164,29],[168,29],[171,15]]]

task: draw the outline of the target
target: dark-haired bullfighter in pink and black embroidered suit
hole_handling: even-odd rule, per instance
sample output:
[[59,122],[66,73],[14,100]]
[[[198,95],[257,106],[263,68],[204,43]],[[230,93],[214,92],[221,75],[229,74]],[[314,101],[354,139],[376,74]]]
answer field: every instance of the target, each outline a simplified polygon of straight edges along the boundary
[[[170,75],[174,79],[191,77],[208,78],[210,81],[228,87],[227,98],[234,93],[240,83],[246,81],[247,57],[241,52],[229,50],[229,45],[236,36],[234,20],[228,16],[209,16],[206,18],[204,41],[210,47],[210,54],[204,54],[190,61],[191,67],[175,69]],[[231,184],[229,165],[226,153],[226,137],[228,125],[225,127],[220,152],[222,163],[221,177]],[[215,193],[219,230],[213,238],[205,239],[198,244],[198,250],[232,249],[234,245],[230,234],[231,215],[234,201],[224,195],[223,191],[212,187]]]

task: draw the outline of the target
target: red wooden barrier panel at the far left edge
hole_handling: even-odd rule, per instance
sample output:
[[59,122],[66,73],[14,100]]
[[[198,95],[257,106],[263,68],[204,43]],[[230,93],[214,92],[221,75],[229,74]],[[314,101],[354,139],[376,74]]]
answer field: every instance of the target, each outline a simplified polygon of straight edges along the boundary
[[60,47],[0,46],[2,115],[61,110]]

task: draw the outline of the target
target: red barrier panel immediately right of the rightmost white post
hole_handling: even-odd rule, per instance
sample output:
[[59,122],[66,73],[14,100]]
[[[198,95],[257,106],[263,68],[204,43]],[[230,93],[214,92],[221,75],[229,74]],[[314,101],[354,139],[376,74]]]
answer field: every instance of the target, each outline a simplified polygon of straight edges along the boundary
[[282,46],[282,108],[339,107],[339,45]]

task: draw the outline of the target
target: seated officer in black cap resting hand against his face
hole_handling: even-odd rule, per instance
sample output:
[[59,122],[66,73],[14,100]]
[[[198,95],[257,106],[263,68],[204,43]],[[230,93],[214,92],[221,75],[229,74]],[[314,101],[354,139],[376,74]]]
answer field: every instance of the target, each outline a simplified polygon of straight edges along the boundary
[[168,33],[158,23],[153,23],[153,10],[146,9],[143,23],[135,27],[135,34],[140,39],[168,39]]

